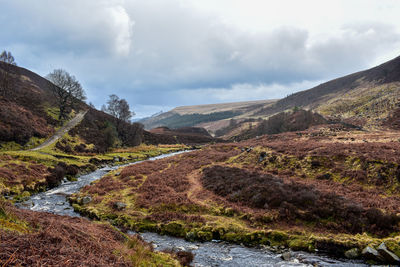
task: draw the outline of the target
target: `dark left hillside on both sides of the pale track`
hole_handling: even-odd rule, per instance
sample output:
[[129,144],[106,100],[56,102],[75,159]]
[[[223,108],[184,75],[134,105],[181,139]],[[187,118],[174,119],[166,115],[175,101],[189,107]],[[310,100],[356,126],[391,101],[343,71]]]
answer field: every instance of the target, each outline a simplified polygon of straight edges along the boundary
[[[126,123],[109,114],[78,102],[69,117],[58,121],[55,96],[50,91],[51,83],[43,77],[21,67],[0,62],[0,71],[7,70],[11,77],[12,90],[0,96],[0,149],[30,149],[43,143],[60,127],[81,110],[87,110],[83,121],[69,131],[75,142],[58,144],[65,152],[105,152],[113,146],[137,146],[141,143],[176,143],[169,135],[145,132],[139,123]],[[180,135],[180,133],[176,133]],[[182,142],[204,143],[204,140],[185,133]],[[208,139],[209,140],[209,139]],[[208,142],[207,140],[207,142]],[[75,147],[77,149],[75,149]]]

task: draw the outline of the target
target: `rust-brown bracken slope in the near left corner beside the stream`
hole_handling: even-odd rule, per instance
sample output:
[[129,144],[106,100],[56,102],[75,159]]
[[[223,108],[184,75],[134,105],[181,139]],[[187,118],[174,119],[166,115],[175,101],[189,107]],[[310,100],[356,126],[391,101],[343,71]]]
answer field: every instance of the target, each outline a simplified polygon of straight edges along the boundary
[[180,266],[108,223],[18,210],[0,200],[1,266]]

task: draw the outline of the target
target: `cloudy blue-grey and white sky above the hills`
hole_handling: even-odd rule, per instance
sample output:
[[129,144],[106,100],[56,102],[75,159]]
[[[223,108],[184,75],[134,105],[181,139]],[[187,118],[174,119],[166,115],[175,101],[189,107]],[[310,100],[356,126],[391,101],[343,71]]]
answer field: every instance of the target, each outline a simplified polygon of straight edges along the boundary
[[0,0],[0,50],[96,107],[285,97],[400,55],[398,0]]

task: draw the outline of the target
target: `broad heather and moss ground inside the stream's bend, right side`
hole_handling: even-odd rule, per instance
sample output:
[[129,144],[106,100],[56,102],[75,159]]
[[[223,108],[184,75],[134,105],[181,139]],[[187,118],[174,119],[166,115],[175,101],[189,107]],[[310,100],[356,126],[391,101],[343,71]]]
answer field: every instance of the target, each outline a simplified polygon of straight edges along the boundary
[[129,166],[71,201],[91,218],[188,240],[364,259],[385,242],[400,255],[399,150],[398,132],[318,126]]

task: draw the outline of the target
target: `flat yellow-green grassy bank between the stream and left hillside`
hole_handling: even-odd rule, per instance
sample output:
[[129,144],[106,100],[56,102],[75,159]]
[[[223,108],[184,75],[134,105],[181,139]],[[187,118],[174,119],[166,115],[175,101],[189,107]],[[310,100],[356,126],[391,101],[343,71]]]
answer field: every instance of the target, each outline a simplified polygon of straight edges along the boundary
[[66,153],[53,144],[39,151],[2,151],[0,195],[21,200],[57,186],[64,177],[72,180],[99,166],[127,164],[186,148],[184,145],[140,145],[94,154]]

